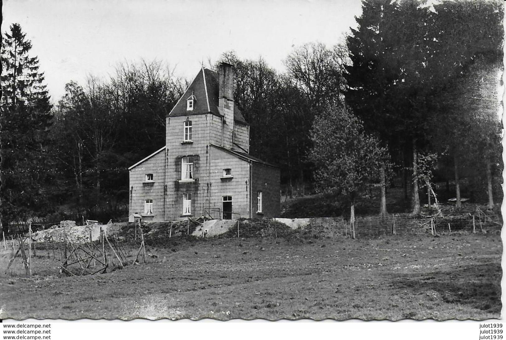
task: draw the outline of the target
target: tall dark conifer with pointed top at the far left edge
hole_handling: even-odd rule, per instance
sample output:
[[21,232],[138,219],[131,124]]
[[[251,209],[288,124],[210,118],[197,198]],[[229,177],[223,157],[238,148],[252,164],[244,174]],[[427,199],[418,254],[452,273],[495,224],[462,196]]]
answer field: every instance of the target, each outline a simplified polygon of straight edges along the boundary
[[2,37],[2,190],[3,224],[27,221],[50,209],[47,156],[51,104],[31,41],[19,24]]

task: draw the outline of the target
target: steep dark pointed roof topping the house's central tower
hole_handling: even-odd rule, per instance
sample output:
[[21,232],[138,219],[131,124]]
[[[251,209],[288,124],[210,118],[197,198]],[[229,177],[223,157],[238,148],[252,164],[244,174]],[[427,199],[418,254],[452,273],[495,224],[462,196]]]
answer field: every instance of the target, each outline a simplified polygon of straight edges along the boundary
[[[203,113],[212,113],[222,117],[218,110],[219,78],[218,73],[202,67],[191,82],[188,89],[168,114],[170,117],[191,116]],[[186,100],[195,96],[193,110],[186,110]],[[234,120],[247,124],[239,108],[234,105]]]

